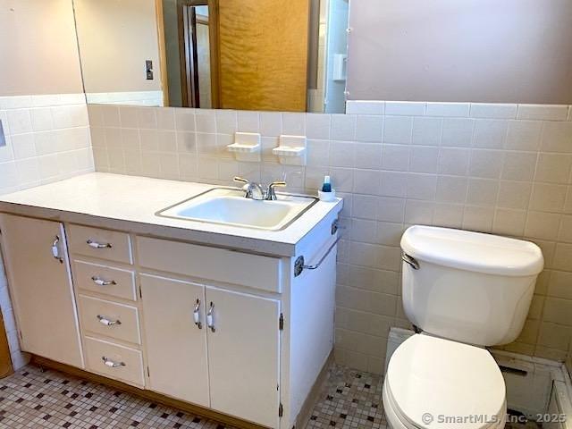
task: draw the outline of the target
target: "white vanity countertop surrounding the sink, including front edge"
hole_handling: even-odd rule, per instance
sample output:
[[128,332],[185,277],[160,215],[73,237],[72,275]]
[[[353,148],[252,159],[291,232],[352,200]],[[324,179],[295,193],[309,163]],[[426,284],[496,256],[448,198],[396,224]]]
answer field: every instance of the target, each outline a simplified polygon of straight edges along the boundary
[[156,212],[217,185],[91,172],[0,196],[0,211],[61,222],[132,231],[238,248],[296,255],[296,245],[324,217],[339,212],[341,198],[317,202],[282,231],[264,231],[157,216]]

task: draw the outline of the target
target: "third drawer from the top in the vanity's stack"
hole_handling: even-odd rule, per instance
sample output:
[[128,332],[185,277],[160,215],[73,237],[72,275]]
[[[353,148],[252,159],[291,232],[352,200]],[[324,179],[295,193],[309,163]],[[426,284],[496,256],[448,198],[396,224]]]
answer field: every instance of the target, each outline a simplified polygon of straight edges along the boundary
[[105,337],[141,343],[139,314],[136,307],[80,295],[81,329]]

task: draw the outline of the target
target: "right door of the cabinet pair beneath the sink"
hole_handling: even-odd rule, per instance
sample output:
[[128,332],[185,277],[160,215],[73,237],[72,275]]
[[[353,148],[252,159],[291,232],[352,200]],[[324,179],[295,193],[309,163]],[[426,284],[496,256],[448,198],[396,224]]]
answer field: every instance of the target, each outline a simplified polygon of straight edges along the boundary
[[280,301],[207,286],[206,304],[211,408],[278,427]]

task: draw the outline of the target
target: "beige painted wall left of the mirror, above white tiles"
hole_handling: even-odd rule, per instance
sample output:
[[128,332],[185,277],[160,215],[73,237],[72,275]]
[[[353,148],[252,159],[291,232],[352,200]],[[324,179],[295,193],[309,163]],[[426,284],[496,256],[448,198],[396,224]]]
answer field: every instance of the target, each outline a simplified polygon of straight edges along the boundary
[[83,92],[71,0],[0,0],[0,96]]

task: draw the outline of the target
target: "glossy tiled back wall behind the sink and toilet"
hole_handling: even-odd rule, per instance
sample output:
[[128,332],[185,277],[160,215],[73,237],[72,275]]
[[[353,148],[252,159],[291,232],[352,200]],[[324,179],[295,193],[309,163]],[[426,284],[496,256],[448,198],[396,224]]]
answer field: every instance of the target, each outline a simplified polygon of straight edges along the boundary
[[[314,192],[324,174],[345,198],[336,356],[381,373],[400,298],[400,234],[412,223],[534,240],[546,269],[526,326],[505,349],[565,360],[572,347],[572,108],[349,101],[347,115],[248,114],[93,105],[97,170],[230,184],[237,173]],[[261,163],[224,150],[235,130],[263,135]],[[306,134],[306,167],[269,151]],[[569,359],[568,359],[569,362]]]

